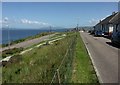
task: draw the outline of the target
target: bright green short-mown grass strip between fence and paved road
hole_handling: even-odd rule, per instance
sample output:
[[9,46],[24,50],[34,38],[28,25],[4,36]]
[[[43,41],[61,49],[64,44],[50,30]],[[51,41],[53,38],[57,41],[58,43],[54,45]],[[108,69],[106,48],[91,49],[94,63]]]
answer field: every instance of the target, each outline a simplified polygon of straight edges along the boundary
[[92,62],[79,33],[77,34],[77,44],[73,60],[73,74],[71,82],[95,83],[95,85],[98,83]]

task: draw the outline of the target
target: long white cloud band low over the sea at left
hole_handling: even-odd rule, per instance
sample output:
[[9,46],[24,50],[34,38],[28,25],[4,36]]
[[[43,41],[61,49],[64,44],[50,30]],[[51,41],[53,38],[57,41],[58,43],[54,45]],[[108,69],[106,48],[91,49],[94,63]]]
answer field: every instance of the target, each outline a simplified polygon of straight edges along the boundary
[[8,17],[4,17],[0,19],[0,25],[6,27],[6,25],[10,25],[10,27],[26,27],[26,28],[43,28],[53,26],[49,23],[40,22],[36,20],[29,19],[8,19]]

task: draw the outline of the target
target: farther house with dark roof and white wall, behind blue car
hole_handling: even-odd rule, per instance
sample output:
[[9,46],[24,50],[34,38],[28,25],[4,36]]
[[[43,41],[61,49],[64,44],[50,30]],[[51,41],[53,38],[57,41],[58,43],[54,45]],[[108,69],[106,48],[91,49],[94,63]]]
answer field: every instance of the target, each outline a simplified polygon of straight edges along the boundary
[[113,25],[109,21],[116,15],[117,13],[113,12],[112,15],[106,17],[95,26],[95,31],[102,31],[104,35],[111,36],[113,32]]

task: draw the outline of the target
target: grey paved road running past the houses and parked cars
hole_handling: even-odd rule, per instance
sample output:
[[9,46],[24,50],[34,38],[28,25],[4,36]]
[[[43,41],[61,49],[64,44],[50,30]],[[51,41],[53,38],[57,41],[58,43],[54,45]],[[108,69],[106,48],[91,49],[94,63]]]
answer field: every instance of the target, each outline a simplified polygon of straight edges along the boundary
[[111,42],[103,37],[94,37],[80,32],[89,50],[100,83],[118,83],[118,48],[107,44]]

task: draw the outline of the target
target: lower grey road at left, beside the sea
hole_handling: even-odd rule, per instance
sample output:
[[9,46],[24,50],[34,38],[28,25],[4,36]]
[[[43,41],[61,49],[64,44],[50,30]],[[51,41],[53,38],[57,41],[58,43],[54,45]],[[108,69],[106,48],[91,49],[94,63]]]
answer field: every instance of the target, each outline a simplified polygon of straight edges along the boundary
[[[51,34],[50,37],[54,36],[55,34]],[[21,43],[18,43],[18,44],[14,44],[14,45],[11,45],[10,46],[10,49],[12,48],[20,48],[20,47],[23,47],[23,48],[27,48],[29,46],[32,46],[34,44],[37,44],[45,39],[48,39],[49,38],[49,35],[46,35],[46,36],[43,36],[43,37],[40,37],[40,38],[35,38],[35,39],[32,39],[32,40],[28,40],[28,41],[24,41],[24,42],[21,42]],[[8,49],[8,47],[4,47],[4,48],[0,48],[0,52],[4,51]]]

